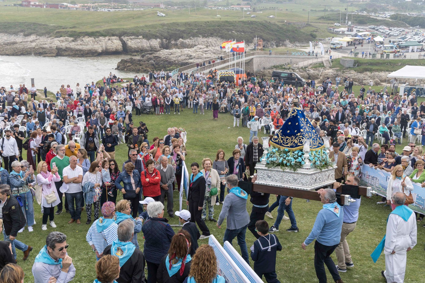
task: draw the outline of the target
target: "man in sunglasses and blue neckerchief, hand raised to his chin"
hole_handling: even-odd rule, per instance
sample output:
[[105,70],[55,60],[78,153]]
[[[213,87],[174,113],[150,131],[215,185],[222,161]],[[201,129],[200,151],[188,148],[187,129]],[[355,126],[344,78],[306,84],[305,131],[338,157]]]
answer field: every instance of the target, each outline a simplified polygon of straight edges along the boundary
[[68,247],[65,234],[51,232],[47,235],[46,245],[41,248],[32,266],[35,283],[50,280],[68,283],[74,279],[75,267],[66,252]]

